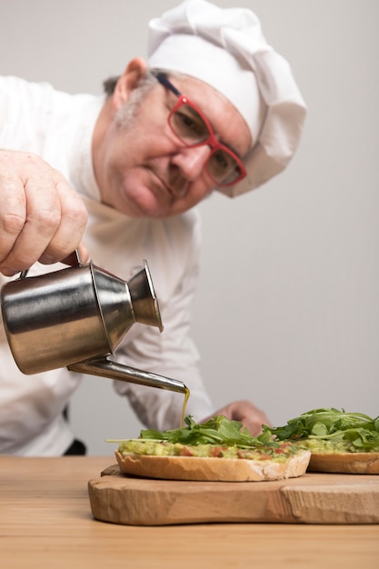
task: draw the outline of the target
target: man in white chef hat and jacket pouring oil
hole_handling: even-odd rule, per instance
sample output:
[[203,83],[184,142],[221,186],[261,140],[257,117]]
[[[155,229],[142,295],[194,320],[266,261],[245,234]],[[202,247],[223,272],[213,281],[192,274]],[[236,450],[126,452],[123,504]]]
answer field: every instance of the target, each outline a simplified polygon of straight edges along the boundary
[[[129,61],[105,81],[104,95],[0,77],[2,282],[32,265],[30,274],[56,270],[75,248],[126,281],[147,259],[165,331],[135,324],[117,360],[183,379],[191,392],[186,413],[196,421],[225,414],[257,434],[268,423],[264,412],[249,401],[216,411],[199,374],[190,335],[201,245],[196,205],[214,191],[238,196],[279,174],[304,115],[290,66],[267,44],[256,15],[205,0],[185,0],[153,19],[147,60]],[[3,327],[0,358],[0,453],[85,453],[65,418],[81,375],[64,368],[25,376]],[[179,424],[177,394],[124,382],[115,390],[146,426]]]

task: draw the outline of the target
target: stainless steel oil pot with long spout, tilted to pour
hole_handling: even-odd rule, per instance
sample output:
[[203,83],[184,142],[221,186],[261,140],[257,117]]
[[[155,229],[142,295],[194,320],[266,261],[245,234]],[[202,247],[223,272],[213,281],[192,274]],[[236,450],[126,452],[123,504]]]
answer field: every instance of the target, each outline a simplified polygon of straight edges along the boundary
[[92,262],[4,284],[8,344],[24,374],[68,369],[181,393],[185,384],[109,360],[136,322],[163,330],[148,265],[128,282]]

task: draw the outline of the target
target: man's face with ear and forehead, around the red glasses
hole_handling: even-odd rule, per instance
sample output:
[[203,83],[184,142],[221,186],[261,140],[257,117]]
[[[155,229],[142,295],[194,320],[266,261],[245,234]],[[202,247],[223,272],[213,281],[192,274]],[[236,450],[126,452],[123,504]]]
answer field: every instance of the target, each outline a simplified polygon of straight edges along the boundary
[[[206,167],[211,147],[185,146],[170,128],[177,96],[164,85],[156,81],[128,117],[144,74],[145,63],[133,60],[105,103],[95,127],[95,175],[105,204],[133,217],[162,218],[185,212],[217,184]],[[185,76],[174,81],[207,117],[217,140],[243,157],[251,135],[234,106],[202,81]]]

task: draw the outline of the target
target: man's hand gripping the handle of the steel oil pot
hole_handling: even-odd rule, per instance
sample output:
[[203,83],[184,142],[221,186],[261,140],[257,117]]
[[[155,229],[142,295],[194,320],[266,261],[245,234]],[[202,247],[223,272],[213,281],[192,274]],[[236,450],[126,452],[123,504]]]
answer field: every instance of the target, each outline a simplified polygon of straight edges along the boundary
[[36,261],[50,265],[79,249],[85,204],[65,176],[28,152],[0,150],[0,272],[12,276]]

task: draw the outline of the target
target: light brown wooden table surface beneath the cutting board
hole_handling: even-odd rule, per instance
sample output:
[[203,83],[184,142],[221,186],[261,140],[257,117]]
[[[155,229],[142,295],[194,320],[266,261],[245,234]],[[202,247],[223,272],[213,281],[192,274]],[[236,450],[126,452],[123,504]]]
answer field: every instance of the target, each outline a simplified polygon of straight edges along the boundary
[[98,522],[87,483],[114,462],[112,456],[0,456],[1,567],[379,567],[378,524],[139,527]]

